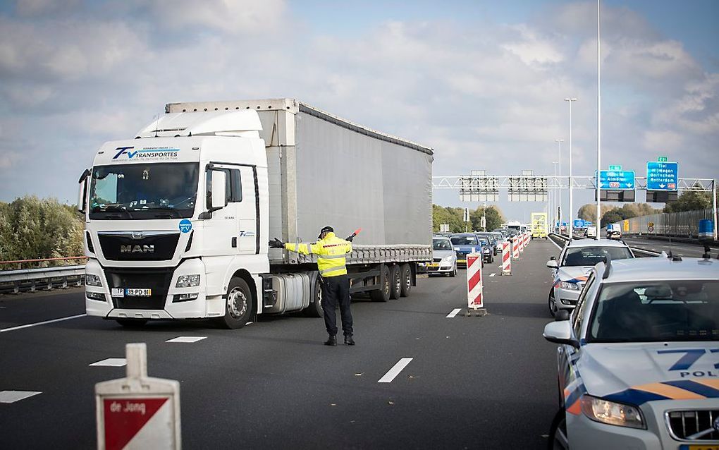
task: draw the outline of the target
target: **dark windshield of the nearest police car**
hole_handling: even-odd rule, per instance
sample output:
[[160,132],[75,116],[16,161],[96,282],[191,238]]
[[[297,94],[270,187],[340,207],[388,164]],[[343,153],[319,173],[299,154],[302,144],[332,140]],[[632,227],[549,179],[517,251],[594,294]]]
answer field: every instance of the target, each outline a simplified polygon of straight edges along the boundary
[[592,342],[717,341],[719,282],[610,284],[590,323]]

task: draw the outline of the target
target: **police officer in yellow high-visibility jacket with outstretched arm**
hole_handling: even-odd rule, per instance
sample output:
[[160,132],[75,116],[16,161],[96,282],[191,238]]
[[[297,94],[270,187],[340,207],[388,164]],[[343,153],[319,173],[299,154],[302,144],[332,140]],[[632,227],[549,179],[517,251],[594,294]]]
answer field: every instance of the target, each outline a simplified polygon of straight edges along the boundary
[[324,227],[320,230],[319,239],[313,244],[284,243],[275,238],[270,240],[270,247],[285,248],[289,251],[309,255],[317,255],[317,269],[319,269],[319,282],[322,287],[322,311],[324,312],[324,325],[327,328],[329,338],[324,343],[326,346],[337,345],[337,325],[335,307],[339,303],[339,314],[342,317],[342,331],[344,332],[344,343],[354,346],[352,338],[352,311],[349,310],[349,277],[347,276],[347,253],[352,251],[352,244],[349,241],[352,237],[344,240],[334,235],[332,227]]

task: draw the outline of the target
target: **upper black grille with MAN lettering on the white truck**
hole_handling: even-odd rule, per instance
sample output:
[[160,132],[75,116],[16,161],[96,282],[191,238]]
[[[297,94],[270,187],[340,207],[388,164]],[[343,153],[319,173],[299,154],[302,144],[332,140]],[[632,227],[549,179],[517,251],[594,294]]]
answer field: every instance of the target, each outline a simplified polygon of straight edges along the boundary
[[180,233],[116,231],[98,233],[102,254],[109,261],[168,261],[173,258]]

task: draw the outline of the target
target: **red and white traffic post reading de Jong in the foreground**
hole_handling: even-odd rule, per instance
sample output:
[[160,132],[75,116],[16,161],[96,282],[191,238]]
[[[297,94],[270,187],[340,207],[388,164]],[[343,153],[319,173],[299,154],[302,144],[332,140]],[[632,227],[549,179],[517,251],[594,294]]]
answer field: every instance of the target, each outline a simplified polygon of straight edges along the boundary
[[182,447],[180,383],[147,377],[147,346],[125,346],[127,378],[95,384],[97,448]]

